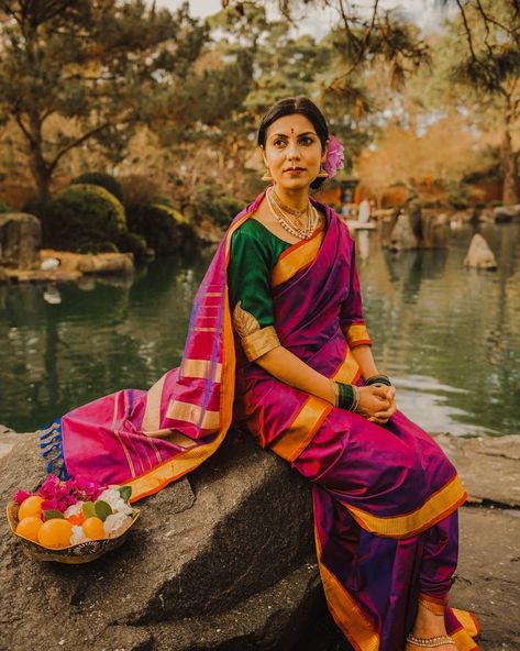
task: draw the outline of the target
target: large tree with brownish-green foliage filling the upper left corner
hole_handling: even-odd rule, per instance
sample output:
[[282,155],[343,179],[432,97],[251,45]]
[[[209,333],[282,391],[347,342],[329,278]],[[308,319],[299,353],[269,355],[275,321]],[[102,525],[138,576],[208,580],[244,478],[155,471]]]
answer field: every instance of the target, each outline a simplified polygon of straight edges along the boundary
[[[84,143],[120,159],[164,89],[188,77],[206,36],[187,3],[174,15],[141,0],[0,0],[0,111],[23,136],[42,196]],[[56,115],[68,129],[53,132]]]

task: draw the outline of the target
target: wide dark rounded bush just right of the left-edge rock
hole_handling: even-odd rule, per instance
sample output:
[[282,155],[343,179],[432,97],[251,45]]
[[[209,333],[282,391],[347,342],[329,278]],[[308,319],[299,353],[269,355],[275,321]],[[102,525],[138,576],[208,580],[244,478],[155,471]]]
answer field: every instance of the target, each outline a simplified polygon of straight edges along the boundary
[[35,207],[42,219],[44,246],[65,251],[106,243],[115,246],[126,230],[123,207],[99,186],[71,185],[51,200],[37,200]]

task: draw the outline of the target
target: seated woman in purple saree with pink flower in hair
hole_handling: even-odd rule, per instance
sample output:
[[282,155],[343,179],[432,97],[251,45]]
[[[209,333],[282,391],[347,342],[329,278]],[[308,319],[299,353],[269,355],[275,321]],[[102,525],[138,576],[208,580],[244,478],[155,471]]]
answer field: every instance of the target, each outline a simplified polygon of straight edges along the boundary
[[219,247],[180,367],[53,423],[49,467],[126,483],[135,500],[197,467],[234,416],[311,481],[328,605],[355,649],[477,649],[472,617],[446,606],[466,494],[396,410],[370,353],[353,241],[309,197],[338,163],[327,122],[309,99],[287,98],[258,144],[273,185]]

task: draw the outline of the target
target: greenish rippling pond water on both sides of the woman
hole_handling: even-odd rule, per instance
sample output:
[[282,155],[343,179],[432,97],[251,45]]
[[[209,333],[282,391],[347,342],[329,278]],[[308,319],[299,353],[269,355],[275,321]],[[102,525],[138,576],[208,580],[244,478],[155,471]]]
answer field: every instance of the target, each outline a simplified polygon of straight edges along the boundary
[[[377,231],[358,233],[365,316],[412,420],[432,432],[519,434],[520,224],[480,232],[497,272],[464,268],[469,228],[445,251],[400,254],[384,251]],[[0,423],[31,431],[178,365],[210,257],[162,258],[129,280],[0,286]]]

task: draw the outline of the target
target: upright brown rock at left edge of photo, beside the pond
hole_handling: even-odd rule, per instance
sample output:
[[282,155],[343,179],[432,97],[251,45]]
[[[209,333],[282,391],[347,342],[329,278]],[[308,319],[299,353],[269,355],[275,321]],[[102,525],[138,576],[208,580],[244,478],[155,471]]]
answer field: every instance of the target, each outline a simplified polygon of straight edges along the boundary
[[42,227],[33,214],[0,214],[0,266],[30,268],[40,262]]

